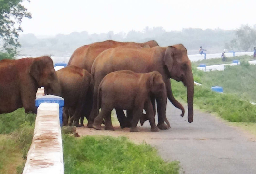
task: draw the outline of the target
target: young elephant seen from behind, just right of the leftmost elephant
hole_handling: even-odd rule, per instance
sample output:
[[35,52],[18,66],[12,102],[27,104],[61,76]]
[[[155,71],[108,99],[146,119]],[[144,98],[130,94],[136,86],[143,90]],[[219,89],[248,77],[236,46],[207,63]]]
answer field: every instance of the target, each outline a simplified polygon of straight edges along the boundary
[[72,65],[62,68],[56,73],[61,87],[60,95],[65,101],[63,125],[66,126],[69,116],[72,116],[69,125],[74,121],[75,126],[80,126],[78,122],[81,118],[81,126],[84,126],[84,116],[88,120],[92,108],[91,74],[85,69]]

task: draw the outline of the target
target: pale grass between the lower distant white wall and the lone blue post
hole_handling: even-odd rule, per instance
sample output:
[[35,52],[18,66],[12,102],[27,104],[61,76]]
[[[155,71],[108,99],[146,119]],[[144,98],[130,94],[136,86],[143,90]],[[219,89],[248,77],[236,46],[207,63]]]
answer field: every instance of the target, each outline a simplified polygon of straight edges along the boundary
[[223,87],[224,93],[256,102],[256,65],[227,66],[224,71],[203,72],[193,68],[194,80],[206,88]]

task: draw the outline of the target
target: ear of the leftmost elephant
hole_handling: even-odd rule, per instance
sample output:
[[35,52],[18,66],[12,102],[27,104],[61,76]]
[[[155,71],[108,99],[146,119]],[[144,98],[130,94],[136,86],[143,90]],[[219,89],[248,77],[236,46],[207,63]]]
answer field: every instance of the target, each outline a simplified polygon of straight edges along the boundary
[[34,59],[31,66],[30,66],[30,70],[29,70],[29,74],[36,80],[37,84],[40,86],[39,84],[39,80],[40,77],[42,75],[42,60],[40,59]]

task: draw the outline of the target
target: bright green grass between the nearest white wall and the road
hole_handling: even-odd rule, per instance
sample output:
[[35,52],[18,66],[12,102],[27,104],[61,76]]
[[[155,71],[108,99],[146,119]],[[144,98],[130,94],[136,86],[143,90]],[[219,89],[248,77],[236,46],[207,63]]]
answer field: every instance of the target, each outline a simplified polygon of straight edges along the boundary
[[147,144],[136,145],[125,137],[63,135],[66,174],[178,174],[177,161],[164,162]]

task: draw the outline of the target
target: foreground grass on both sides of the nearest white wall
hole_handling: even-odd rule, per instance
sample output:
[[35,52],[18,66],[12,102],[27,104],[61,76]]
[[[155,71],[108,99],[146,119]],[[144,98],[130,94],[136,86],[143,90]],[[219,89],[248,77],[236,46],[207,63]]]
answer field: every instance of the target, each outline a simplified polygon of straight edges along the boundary
[[[18,109],[0,115],[0,173],[21,173],[34,132],[34,114]],[[65,173],[178,174],[178,161],[164,162],[147,144],[127,138],[63,134]]]

